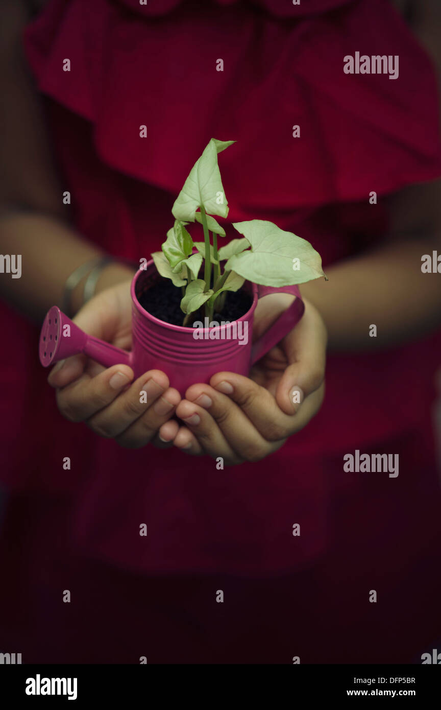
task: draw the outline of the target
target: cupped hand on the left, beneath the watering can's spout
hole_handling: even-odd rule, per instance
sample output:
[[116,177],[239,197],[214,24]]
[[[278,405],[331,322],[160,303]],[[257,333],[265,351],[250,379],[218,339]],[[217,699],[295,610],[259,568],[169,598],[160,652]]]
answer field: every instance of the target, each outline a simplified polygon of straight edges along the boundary
[[[91,298],[73,321],[94,337],[130,349],[130,281]],[[148,442],[167,446],[157,431],[174,415],[181,400],[179,392],[169,388],[169,379],[160,370],[146,372],[135,381],[133,377],[128,365],[106,369],[84,355],[74,355],[55,365],[48,382],[57,388],[58,408],[69,421],[85,422],[96,434],[130,449]],[[140,403],[141,391],[147,394],[145,403]]]

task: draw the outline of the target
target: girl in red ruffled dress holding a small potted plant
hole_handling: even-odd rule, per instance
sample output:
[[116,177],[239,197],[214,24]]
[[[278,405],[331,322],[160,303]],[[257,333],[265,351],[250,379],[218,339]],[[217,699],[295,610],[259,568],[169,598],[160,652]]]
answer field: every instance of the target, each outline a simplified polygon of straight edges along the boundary
[[[411,662],[432,648],[441,289],[421,259],[440,251],[441,13],[398,10],[418,39],[386,0],[2,7],[0,239],[23,274],[0,280],[1,595],[23,662]],[[356,52],[398,57],[396,79],[346,74]],[[45,311],[75,272],[75,322],[130,347],[128,261],[160,248],[211,136],[238,141],[221,156],[229,219],[308,239],[329,282],[301,288],[303,320],[250,378],[218,373],[181,399],[160,371],[133,381],[76,356],[49,375],[55,405],[36,357]],[[262,301],[259,328],[287,305]],[[356,452],[398,454],[398,476],[345,470]]]

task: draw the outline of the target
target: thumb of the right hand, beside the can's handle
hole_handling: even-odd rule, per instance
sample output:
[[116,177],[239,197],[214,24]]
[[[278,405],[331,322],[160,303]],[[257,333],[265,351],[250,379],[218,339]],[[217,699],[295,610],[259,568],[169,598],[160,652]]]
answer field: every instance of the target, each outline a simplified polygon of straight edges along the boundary
[[276,400],[286,414],[296,412],[325,377],[325,326],[316,309],[309,303],[306,307],[305,316],[282,343],[290,364],[277,386]]

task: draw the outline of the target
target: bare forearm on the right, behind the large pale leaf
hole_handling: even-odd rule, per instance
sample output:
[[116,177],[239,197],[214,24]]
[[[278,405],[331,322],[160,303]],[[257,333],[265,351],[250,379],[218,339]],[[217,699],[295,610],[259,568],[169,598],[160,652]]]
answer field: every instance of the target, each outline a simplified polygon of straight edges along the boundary
[[[329,347],[383,349],[430,332],[441,322],[441,275],[421,272],[432,241],[404,241],[326,269],[301,293],[320,310]],[[376,325],[376,337],[369,327]]]

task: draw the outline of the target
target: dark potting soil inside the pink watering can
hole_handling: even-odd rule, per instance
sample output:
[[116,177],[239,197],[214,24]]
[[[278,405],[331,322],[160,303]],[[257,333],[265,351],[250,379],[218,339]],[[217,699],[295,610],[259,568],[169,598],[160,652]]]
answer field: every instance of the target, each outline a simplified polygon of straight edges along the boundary
[[[138,300],[143,308],[155,318],[172,325],[182,325],[185,315],[180,306],[182,290],[174,286],[168,279],[150,286],[140,295]],[[222,313],[214,313],[213,320],[218,323],[229,320],[232,323],[245,315],[247,310],[250,310],[251,304],[250,295],[244,291],[227,291],[223,311]],[[202,312],[196,312],[192,316],[191,324],[188,327],[192,327],[192,323],[196,320],[203,322],[203,307]]]

